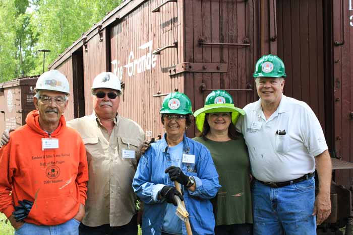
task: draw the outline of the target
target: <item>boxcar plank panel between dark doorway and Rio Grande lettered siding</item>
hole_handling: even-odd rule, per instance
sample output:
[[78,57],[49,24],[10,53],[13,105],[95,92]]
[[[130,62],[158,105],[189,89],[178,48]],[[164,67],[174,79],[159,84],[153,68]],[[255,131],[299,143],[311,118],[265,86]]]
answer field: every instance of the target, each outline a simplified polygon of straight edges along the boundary
[[83,76],[85,113],[90,115],[93,112],[91,88],[94,77],[101,72],[109,71],[109,38],[106,37],[106,28],[103,29],[102,40],[99,34],[94,35],[87,42],[87,51],[83,48]]

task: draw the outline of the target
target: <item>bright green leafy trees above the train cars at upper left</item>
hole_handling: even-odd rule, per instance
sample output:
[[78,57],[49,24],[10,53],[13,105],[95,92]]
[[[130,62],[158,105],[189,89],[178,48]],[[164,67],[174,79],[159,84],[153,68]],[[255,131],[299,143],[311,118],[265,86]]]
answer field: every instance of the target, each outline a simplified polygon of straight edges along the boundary
[[0,0],[0,82],[42,72],[121,0]]

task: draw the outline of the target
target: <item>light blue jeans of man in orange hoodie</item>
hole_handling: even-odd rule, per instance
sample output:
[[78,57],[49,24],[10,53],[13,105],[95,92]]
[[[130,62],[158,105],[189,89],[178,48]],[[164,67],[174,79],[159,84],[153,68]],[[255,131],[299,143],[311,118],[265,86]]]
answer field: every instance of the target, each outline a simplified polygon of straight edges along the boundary
[[54,226],[24,223],[22,227],[15,230],[15,235],[77,235],[79,234],[79,225],[80,222],[74,218]]

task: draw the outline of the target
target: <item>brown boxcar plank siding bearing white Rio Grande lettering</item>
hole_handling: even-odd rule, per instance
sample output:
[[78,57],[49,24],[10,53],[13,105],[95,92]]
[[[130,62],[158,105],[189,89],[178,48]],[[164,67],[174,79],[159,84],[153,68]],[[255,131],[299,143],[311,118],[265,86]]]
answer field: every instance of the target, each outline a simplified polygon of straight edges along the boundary
[[[181,61],[177,48],[168,48],[160,55],[152,55],[151,63],[155,61],[155,67],[151,65],[151,69],[138,72],[137,64],[134,65],[133,74],[129,75],[132,67],[126,66],[133,60],[149,56],[157,48],[171,45],[181,37],[177,4],[166,4],[160,12],[152,13],[162,2],[152,0],[144,3],[110,29],[110,61],[119,62],[115,65],[115,71],[111,65],[111,71],[120,75],[125,83],[119,112],[139,123],[146,131],[147,138],[163,133],[159,109],[164,97],[154,98],[153,95],[169,93],[175,88],[183,92],[183,76],[169,76],[169,69]],[[140,48],[148,43],[152,43],[152,49]],[[130,53],[133,53],[133,58],[129,60]]]

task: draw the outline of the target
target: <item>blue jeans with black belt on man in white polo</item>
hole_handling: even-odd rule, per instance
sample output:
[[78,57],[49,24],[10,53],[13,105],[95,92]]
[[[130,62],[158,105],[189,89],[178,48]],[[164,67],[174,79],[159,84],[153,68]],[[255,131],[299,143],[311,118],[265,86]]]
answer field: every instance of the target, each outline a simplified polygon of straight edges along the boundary
[[254,235],[316,234],[314,177],[282,188],[253,186]]

